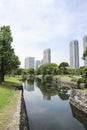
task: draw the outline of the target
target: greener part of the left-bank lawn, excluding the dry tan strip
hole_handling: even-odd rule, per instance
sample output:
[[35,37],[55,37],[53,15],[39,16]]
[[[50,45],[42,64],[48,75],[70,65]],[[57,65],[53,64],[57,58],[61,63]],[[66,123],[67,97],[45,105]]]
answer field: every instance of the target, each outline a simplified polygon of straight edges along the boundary
[[5,82],[0,84],[0,110],[10,104],[15,94],[14,86],[20,86],[22,83],[18,77],[5,77]]

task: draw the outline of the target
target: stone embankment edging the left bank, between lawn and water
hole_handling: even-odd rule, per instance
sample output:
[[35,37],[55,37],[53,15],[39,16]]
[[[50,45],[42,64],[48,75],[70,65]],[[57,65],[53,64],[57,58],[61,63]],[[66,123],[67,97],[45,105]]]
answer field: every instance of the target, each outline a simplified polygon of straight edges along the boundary
[[[18,109],[16,110],[17,118],[18,118],[18,124],[17,128],[15,130],[30,130],[29,129],[29,121],[26,111],[26,105],[24,101],[24,95],[23,95],[23,86],[15,86],[15,91],[20,91],[20,99],[18,100]],[[16,119],[15,119],[16,121]],[[17,122],[17,121],[16,121]],[[14,129],[12,129],[14,130]]]

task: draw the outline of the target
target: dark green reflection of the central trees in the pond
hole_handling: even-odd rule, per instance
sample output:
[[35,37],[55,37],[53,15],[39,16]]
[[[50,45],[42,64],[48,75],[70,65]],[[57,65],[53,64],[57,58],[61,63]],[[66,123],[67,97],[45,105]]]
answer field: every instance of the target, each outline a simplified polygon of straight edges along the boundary
[[46,82],[43,80],[37,80],[37,86],[41,90],[44,99],[51,100],[51,96],[55,95],[58,95],[61,100],[69,99],[69,87],[61,87],[58,85],[54,85],[52,81]]

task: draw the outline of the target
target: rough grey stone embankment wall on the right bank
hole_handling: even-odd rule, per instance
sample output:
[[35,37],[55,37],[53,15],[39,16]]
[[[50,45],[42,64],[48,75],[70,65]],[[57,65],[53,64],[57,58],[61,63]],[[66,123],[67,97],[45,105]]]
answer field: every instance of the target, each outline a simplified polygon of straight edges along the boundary
[[87,114],[87,93],[72,89],[70,103],[80,111]]

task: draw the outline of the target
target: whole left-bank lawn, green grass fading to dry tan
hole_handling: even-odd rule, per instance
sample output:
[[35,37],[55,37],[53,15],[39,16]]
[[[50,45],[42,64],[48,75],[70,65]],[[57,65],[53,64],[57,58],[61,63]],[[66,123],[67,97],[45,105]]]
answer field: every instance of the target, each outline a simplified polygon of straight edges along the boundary
[[8,128],[18,104],[20,91],[15,91],[13,85],[21,85],[21,82],[17,78],[7,77],[0,84],[0,130]]

